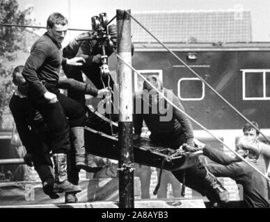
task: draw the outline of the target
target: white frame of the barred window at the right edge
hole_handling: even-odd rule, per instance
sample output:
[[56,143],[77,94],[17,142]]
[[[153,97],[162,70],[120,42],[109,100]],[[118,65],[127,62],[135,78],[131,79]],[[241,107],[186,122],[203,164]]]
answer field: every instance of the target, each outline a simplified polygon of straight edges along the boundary
[[[267,97],[267,72],[270,73],[270,69],[240,69],[242,72],[242,95],[243,100],[270,100],[270,96]],[[246,73],[260,73],[262,74],[262,89],[263,89],[263,96],[262,97],[246,97]]]

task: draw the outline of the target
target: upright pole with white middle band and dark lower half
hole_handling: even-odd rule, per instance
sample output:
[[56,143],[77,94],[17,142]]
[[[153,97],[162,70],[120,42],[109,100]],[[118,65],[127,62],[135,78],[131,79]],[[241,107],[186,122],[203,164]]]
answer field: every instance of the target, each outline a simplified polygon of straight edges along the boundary
[[[128,10],[130,13],[130,10]],[[132,64],[131,19],[125,10],[116,10],[118,54]],[[134,157],[132,141],[132,70],[118,59],[119,83],[119,202],[120,208],[134,208]]]

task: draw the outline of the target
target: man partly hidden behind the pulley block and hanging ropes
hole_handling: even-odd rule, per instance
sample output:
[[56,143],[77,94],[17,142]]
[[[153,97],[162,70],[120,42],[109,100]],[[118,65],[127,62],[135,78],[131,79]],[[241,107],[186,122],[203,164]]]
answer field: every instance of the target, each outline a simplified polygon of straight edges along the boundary
[[[116,25],[109,26],[108,33],[110,40],[105,42],[105,52],[106,56],[111,56],[113,48],[116,46]],[[63,66],[63,70],[68,78],[74,78],[75,80],[83,82],[82,72],[84,72],[97,89],[102,89],[104,87],[113,89],[114,82],[111,74],[108,76],[100,75],[100,67],[102,67],[101,42],[95,39],[78,41],[80,38],[93,37],[94,35],[97,35],[95,31],[81,33],[65,46],[63,49],[63,56],[65,58],[74,58],[76,56],[84,58],[86,62],[82,67]],[[85,105],[84,94],[69,89],[68,96],[79,101],[82,105]]]

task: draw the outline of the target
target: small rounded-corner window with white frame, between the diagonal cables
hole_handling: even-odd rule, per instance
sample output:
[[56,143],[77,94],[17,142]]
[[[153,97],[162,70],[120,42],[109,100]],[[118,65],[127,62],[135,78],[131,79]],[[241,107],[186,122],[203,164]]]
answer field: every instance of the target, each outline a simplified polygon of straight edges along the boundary
[[183,101],[199,101],[205,98],[205,83],[199,78],[180,78],[178,97]]

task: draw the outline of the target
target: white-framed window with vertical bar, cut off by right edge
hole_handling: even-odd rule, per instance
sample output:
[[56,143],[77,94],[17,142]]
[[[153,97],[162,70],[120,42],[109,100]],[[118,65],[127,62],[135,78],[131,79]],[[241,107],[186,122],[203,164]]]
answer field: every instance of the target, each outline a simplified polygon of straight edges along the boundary
[[270,69],[241,69],[243,100],[270,100]]

